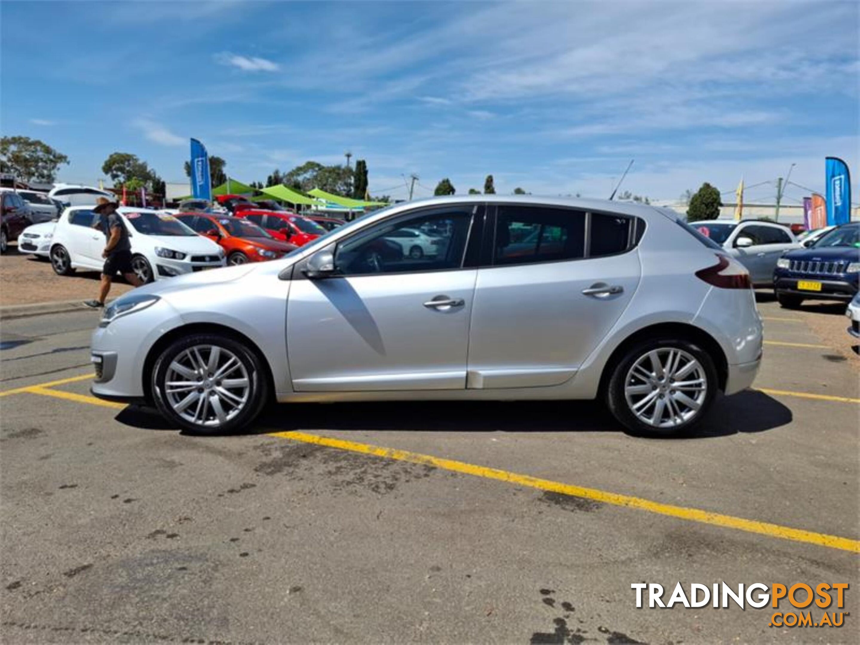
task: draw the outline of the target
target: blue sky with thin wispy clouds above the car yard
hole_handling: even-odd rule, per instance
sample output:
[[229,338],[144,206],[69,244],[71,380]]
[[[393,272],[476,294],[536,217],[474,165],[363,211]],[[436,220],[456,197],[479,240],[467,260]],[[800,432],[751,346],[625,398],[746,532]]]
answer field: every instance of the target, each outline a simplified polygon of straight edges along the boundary
[[[858,162],[856,2],[3,2],[0,125],[93,183],[114,151],[186,181],[365,158],[376,194],[673,200]],[[747,200],[772,200],[772,184]],[[789,200],[804,191],[789,189]],[[728,197],[727,197],[728,199]]]

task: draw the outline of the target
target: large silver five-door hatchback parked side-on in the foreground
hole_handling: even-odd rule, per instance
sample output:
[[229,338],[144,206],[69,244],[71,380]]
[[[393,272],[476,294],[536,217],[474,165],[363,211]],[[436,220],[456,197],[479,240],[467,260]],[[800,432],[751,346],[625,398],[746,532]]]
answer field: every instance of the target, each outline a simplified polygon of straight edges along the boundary
[[598,397],[635,433],[680,433],[753,383],[761,349],[746,269],[672,211],[446,197],[127,293],[93,335],[92,391],[194,433],[272,398]]

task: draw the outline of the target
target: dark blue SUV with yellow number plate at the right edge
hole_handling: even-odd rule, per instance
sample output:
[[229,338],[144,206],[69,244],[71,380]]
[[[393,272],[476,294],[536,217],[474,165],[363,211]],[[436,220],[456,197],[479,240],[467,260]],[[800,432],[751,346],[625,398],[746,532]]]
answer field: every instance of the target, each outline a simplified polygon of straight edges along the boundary
[[783,307],[803,300],[849,302],[860,276],[860,222],[843,224],[807,249],[788,251],[777,261],[773,288]]

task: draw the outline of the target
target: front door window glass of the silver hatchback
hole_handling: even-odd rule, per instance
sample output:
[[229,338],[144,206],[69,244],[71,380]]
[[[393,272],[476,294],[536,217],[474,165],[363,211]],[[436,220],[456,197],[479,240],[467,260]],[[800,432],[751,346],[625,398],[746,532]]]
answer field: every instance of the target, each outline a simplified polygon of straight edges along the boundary
[[[463,265],[471,218],[472,206],[463,206],[376,224],[365,234],[337,245],[335,267],[343,275],[458,269]],[[424,224],[445,233],[402,235],[403,230],[421,230]]]

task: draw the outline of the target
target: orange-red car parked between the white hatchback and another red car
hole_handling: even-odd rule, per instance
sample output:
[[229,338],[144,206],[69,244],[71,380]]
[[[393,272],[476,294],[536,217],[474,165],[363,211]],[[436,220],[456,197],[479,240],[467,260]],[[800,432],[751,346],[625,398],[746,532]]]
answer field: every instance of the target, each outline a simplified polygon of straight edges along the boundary
[[294,251],[294,244],[279,242],[259,226],[240,218],[184,212],[176,215],[182,224],[218,243],[227,254],[227,264],[277,260]]

